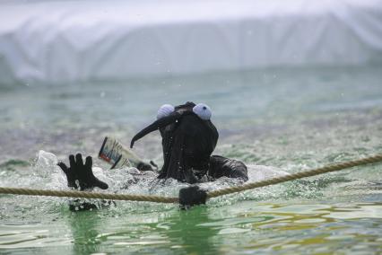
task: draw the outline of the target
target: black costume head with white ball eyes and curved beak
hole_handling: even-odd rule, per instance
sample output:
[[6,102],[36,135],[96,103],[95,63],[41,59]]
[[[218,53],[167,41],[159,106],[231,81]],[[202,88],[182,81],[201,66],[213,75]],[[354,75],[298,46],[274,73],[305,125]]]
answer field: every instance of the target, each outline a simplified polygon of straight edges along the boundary
[[218,131],[211,122],[211,110],[204,103],[187,102],[158,110],[157,120],[136,134],[130,144],[159,129],[164,164],[159,178],[195,182],[208,171],[210,156],[218,141]]

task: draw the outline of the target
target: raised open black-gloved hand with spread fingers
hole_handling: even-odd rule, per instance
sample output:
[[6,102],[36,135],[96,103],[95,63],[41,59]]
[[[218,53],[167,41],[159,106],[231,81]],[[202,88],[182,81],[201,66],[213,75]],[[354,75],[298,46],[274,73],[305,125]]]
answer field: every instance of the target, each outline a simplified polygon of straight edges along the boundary
[[67,168],[65,163],[57,163],[57,165],[65,172],[67,179],[67,186],[78,189],[78,184],[80,189],[90,189],[93,187],[98,187],[100,189],[108,189],[109,186],[103,181],[97,179],[91,171],[92,159],[91,156],[86,157],[86,162],[83,164],[82,155],[76,154],[69,155],[70,168]]

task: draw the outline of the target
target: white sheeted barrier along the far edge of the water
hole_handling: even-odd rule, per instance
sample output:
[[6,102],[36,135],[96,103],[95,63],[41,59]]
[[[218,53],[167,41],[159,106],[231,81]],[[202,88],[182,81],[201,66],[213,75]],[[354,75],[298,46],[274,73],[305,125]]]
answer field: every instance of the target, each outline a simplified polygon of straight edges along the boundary
[[374,62],[381,0],[0,2],[0,84]]

